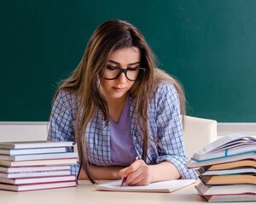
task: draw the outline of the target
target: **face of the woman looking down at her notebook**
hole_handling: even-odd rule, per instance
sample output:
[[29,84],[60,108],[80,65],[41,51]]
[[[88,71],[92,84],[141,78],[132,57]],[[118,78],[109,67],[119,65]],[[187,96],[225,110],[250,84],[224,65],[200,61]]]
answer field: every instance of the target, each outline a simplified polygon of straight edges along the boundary
[[[105,68],[103,77],[113,78],[113,70],[117,68],[139,68],[141,60],[141,52],[139,48],[122,48],[110,55],[108,64]],[[119,73],[117,70],[115,73]],[[131,76],[134,72],[130,72]],[[113,77],[109,77],[113,76]],[[101,85],[107,99],[126,99],[128,91],[134,82],[125,77],[125,73],[121,73],[119,77],[113,80],[102,79]]]

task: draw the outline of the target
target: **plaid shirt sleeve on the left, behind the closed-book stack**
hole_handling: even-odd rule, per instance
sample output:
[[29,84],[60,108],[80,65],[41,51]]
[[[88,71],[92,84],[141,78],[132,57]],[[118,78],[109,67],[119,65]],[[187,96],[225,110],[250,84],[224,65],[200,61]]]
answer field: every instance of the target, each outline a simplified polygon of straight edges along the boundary
[[[49,141],[73,141],[75,121],[75,97],[67,91],[60,91],[52,107],[49,119]],[[71,165],[71,173],[78,175],[79,165]]]

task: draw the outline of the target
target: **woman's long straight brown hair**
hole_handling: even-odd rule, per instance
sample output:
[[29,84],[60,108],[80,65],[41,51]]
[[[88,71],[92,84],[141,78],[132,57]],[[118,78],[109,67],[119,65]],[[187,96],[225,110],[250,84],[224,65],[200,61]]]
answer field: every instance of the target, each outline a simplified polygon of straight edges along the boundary
[[[156,58],[148,46],[143,34],[137,27],[123,20],[108,20],[96,28],[85,48],[83,58],[73,74],[68,77],[58,88],[65,89],[77,96],[78,113],[75,125],[75,140],[79,151],[79,160],[92,183],[95,183],[90,174],[90,162],[85,142],[85,128],[96,111],[102,111],[103,119],[109,121],[107,101],[101,91],[101,78],[110,54],[121,49],[136,47],[141,52],[141,67],[146,68],[139,81],[135,82],[129,92],[136,101],[135,113],[140,131],[143,133],[143,160],[146,161],[148,151],[148,99],[153,93],[154,85],[160,81],[172,82],[179,94],[181,101],[181,114],[184,112],[183,89],[172,77],[156,69]],[[54,100],[55,100],[54,97]]]

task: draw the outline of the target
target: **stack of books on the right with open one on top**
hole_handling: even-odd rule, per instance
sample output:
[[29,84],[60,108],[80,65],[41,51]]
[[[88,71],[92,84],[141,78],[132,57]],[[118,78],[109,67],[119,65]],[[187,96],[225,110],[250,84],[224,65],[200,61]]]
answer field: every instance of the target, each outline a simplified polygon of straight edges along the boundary
[[195,152],[198,195],[209,202],[256,201],[256,137],[229,135]]

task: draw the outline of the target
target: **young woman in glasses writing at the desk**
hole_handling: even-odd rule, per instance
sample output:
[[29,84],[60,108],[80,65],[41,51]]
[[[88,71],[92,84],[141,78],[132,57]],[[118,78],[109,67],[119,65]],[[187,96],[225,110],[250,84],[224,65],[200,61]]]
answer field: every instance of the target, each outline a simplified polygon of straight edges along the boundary
[[76,142],[80,178],[129,185],[196,178],[185,167],[183,89],[155,67],[143,34],[123,20],[104,22],[90,37],[55,94],[48,137]]

